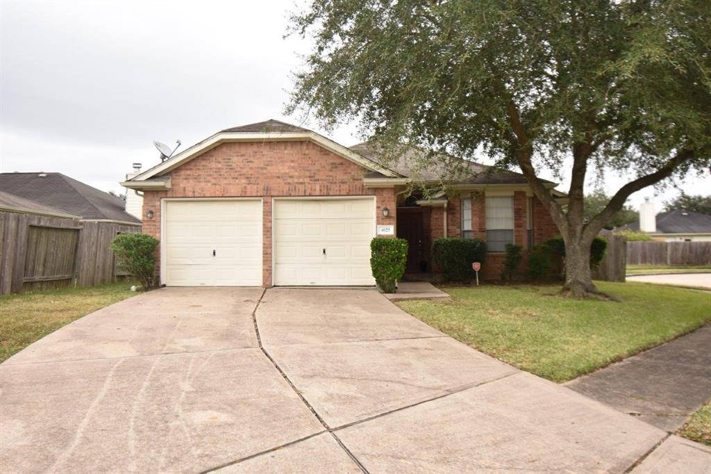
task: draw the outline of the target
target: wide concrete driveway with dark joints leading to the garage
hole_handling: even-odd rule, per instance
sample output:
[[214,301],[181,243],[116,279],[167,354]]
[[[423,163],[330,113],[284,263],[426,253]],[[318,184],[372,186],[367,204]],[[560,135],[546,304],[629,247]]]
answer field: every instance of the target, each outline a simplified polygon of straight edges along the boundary
[[707,472],[372,290],[164,288],[0,364],[3,472]]

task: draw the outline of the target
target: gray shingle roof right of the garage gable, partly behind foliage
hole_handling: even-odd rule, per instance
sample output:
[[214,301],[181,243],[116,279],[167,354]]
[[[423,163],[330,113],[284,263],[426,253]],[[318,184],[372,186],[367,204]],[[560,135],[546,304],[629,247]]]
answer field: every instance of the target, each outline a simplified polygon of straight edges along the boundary
[[[494,167],[489,167],[481,163],[471,162],[458,157],[451,157],[449,155],[442,155],[442,162],[452,161],[459,167],[461,164],[461,169],[457,171],[456,175],[451,175],[447,172],[445,167],[428,166],[427,169],[422,169],[418,166],[418,162],[424,157],[424,150],[408,147],[405,152],[402,152],[399,157],[395,160],[388,160],[383,157],[383,154],[378,150],[378,147],[370,144],[370,142],[363,142],[351,147],[353,152],[356,152],[363,157],[366,157],[382,166],[392,169],[392,171],[401,174],[403,177],[412,178],[416,180],[443,180],[443,181],[454,181],[460,184],[528,184],[523,174],[510,172],[505,169],[497,169]],[[366,174],[366,177],[379,178],[383,175],[379,173]],[[545,181],[550,183],[551,181]]]

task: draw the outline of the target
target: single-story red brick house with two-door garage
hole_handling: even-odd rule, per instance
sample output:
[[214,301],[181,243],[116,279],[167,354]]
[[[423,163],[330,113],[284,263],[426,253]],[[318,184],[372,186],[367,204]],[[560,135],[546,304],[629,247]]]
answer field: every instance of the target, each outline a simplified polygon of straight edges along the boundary
[[482,238],[483,276],[498,278],[506,242],[526,249],[557,233],[520,174],[476,174],[447,186],[450,196],[417,199],[413,179],[442,181],[411,176],[406,158],[385,167],[368,144],[268,120],[218,132],[122,185],[143,194],[165,285],[373,285],[376,235],[407,239],[410,273],[431,271],[435,238]]

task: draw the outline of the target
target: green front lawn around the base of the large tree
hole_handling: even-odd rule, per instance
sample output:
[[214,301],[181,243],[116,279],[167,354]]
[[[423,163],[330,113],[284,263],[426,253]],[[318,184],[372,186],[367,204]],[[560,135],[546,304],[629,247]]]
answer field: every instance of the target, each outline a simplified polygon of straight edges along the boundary
[[402,301],[403,310],[520,369],[567,381],[711,320],[711,294],[597,282],[622,302],[574,300],[558,286],[443,288],[451,301]]

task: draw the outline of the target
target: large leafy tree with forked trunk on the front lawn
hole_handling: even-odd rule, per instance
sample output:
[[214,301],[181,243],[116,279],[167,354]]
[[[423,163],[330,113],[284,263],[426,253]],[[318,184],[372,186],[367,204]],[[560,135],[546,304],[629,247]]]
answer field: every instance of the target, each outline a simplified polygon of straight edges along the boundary
[[[287,111],[325,126],[357,119],[386,146],[520,168],[565,241],[565,292],[598,295],[590,246],[627,197],[708,171],[710,10],[708,0],[313,0],[292,17],[292,33],[315,46]],[[567,206],[538,177],[545,167],[569,175]],[[593,169],[629,182],[587,220]]]

